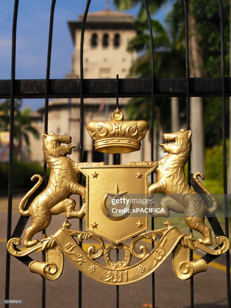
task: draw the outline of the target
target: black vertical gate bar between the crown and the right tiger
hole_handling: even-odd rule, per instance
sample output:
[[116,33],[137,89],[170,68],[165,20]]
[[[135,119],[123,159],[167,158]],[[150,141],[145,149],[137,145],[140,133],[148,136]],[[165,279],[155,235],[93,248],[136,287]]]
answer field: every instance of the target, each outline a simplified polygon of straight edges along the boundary
[[[147,1],[144,0],[144,6],[148,18],[148,28],[150,34],[151,43],[151,59],[152,59],[152,98],[151,98],[151,160],[154,160],[154,144],[153,144],[153,125],[154,125],[154,46],[153,46],[153,34],[152,34],[152,24],[151,18],[148,10]],[[153,173],[151,175],[151,182],[153,183],[154,177]],[[154,218],[152,217],[152,230],[154,230]],[[154,248],[154,242],[152,241],[152,249]],[[155,307],[155,272],[152,273],[152,307]]]

